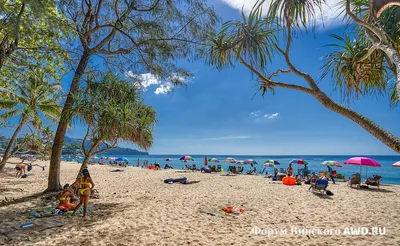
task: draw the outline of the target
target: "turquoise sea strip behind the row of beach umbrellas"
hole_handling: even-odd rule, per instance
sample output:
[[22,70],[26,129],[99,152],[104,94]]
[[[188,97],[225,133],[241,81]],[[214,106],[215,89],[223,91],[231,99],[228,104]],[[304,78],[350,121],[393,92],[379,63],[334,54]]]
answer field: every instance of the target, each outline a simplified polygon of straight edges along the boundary
[[[354,155],[356,156],[356,155]],[[340,155],[304,155],[304,156],[291,156],[291,155],[279,155],[279,156],[262,156],[262,155],[257,155],[257,156],[226,156],[226,155],[211,155],[207,156],[207,159],[210,158],[217,158],[220,160],[220,163],[212,163],[209,162],[209,165],[217,165],[220,164],[222,165],[222,168],[224,170],[228,169],[228,166],[233,165],[231,163],[226,163],[223,162],[224,159],[228,157],[233,157],[236,160],[247,160],[247,159],[253,159],[257,161],[259,164],[254,165],[254,167],[257,168],[257,171],[261,171],[264,168],[268,172],[272,172],[272,167],[264,167],[263,163],[266,160],[277,160],[280,162],[280,165],[277,165],[278,168],[287,168],[289,162],[292,159],[303,159],[309,163],[309,169],[311,171],[326,171],[327,168],[324,166],[321,166],[321,162],[323,161],[328,161],[328,160],[333,160],[341,163],[343,165],[342,168],[334,168],[337,170],[337,173],[341,173],[347,177],[350,177],[353,173],[360,172],[360,166],[354,166],[354,165],[344,165],[343,162],[351,157],[354,156],[340,156]],[[99,156],[100,157],[100,156]],[[204,164],[204,155],[191,155],[191,157],[194,159],[194,161],[190,162],[181,162],[179,161],[179,158],[181,155],[139,155],[139,156],[134,156],[134,155],[124,155],[124,156],[115,156],[115,157],[126,157],[129,160],[129,165],[136,165],[137,159],[140,160],[140,165],[143,165],[144,160],[148,160],[149,164],[158,162],[161,164],[161,167],[164,167],[165,164],[169,164],[173,166],[176,169],[182,169],[185,165],[187,164],[196,164],[197,167],[203,167]],[[378,161],[382,167],[380,168],[374,168],[374,167],[362,167],[362,172],[361,172],[361,177],[363,180],[366,179],[367,175],[372,176],[373,174],[377,173],[382,176],[382,183],[384,184],[400,184],[400,167],[392,167],[392,164],[400,161],[400,155],[396,156],[364,156],[368,158],[372,158],[376,161]],[[166,158],[172,158],[172,161],[167,162],[165,161]],[[297,166],[298,168],[302,168],[302,165],[293,165],[293,169],[296,173],[297,171]],[[244,165],[245,171],[251,169],[250,165]],[[244,171],[244,172],[245,172]]]

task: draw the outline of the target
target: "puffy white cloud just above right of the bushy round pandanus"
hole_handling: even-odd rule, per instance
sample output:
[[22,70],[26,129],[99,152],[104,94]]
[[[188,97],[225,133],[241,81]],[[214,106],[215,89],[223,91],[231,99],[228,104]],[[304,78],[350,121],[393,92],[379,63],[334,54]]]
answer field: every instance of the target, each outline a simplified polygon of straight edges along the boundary
[[[147,91],[152,85],[158,85],[154,90],[154,94],[162,95],[171,92],[174,89],[172,82],[166,80],[162,81],[159,77],[151,73],[134,74],[132,71],[125,72],[125,76],[131,78],[133,83],[140,87],[143,91]],[[179,79],[186,82],[187,79],[179,75],[172,75],[171,80]]]

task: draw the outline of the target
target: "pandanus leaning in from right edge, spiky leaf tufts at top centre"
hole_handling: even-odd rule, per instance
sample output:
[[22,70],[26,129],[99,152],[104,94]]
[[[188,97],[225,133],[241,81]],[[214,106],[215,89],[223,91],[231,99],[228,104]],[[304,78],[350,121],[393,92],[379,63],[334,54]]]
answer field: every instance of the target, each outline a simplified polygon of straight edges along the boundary
[[[354,121],[388,147],[400,153],[398,137],[364,115],[332,100],[319,88],[315,78],[300,70],[293,62],[290,55],[293,34],[301,31],[301,28],[307,28],[307,25],[315,19],[316,10],[323,3],[323,0],[275,0],[271,2],[267,16],[263,17],[261,8],[265,3],[259,1],[248,16],[243,13],[241,21],[225,23],[220,32],[210,38],[207,62],[217,69],[242,64],[257,77],[263,95],[267,91],[274,93],[275,88],[306,93],[326,108]],[[285,34],[281,36],[285,37],[283,44],[277,38],[279,34]],[[273,56],[281,56],[287,67],[267,74],[266,67]],[[286,74],[301,78],[305,85],[282,82]]]

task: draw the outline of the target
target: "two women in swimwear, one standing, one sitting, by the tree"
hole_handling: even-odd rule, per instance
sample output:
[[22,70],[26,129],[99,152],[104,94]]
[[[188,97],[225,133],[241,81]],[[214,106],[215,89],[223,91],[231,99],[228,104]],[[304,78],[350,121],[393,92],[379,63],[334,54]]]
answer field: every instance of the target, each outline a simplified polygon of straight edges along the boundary
[[[57,206],[57,209],[63,211],[74,210],[72,215],[75,215],[76,211],[78,211],[79,208],[83,205],[83,217],[85,217],[89,198],[91,195],[91,190],[93,188],[93,179],[89,174],[89,170],[85,168],[82,170],[82,172],[79,174],[79,177],[72,185],[64,185],[63,190],[59,196],[59,204]],[[79,195],[78,204],[71,202],[75,200],[75,191],[77,191]]]

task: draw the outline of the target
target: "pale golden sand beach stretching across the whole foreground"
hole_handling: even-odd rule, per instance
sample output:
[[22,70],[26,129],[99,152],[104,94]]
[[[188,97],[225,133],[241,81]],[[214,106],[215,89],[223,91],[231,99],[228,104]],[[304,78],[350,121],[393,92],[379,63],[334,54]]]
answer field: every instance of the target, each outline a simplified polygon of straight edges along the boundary
[[[35,162],[40,165],[45,163]],[[80,165],[61,164],[62,184],[72,183]],[[0,227],[48,218],[29,219],[32,208],[54,206],[55,198],[41,195],[48,175],[34,167],[26,179],[0,176]],[[263,176],[221,176],[179,170],[152,171],[137,167],[110,172],[109,166],[89,166],[99,191],[86,218],[54,216],[64,226],[9,238],[1,245],[400,245],[400,187],[351,189],[330,184],[334,195],[317,195],[308,185],[285,186]],[[12,173],[11,173],[12,171]],[[12,175],[11,175],[12,174]],[[191,185],[164,184],[166,178],[200,180]],[[53,196],[54,197],[54,196]],[[246,212],[213,216],[238,205]],[[254,227],[287,229],[288,235],[255,235]],[[296,235],[297,229],[381,227],[384,235]]]

